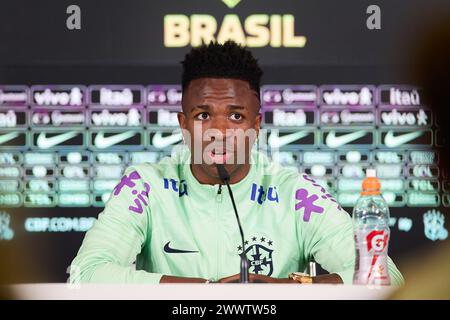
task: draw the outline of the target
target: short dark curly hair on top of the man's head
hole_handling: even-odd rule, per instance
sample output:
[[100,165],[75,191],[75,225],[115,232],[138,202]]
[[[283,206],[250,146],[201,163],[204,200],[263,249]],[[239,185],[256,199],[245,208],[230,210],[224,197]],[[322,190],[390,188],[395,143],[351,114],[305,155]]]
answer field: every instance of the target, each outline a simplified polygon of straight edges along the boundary
[[182,88],[200,78],[224,78],[247,81],[259,98],[263,71],[252,53],[233,41],[223,44],[210,42],[192,48],[186,54],[183,65]]

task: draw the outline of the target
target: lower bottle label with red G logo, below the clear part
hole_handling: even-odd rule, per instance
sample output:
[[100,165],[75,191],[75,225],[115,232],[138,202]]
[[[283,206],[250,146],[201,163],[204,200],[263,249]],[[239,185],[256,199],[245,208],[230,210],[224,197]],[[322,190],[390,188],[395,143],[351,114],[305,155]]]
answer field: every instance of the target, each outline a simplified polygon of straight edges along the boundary
[[389,285],[387,266],[389,230],[356,231],[356,269],[354,283]]

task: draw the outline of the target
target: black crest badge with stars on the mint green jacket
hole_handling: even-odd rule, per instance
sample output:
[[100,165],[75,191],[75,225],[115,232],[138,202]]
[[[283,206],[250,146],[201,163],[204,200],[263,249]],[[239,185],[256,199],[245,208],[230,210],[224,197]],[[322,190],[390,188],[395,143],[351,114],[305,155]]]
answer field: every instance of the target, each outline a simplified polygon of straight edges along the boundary
[[[252,237],[245,242],[245,254],[250,264],[249,272],[271,276],[273,273],[272,253],[273,241],[265,237]],[[238,246],[238,253],[242,252],[242,246]]]

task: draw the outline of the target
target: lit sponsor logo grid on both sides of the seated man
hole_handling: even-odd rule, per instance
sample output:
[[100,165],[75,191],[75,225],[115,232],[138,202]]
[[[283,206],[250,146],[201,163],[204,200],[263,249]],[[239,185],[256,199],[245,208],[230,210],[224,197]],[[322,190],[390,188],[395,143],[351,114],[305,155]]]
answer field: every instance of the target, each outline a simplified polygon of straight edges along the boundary
[[[266,85],[261,104],[259,148],[344,207],[367,167],[393,209],[450,205],[439,127],[419,88]],[[103,207],[127,166],[181,142],[180,110],[175,85],[0,86],[0,207]],[[411,229],[407,217],[391,220]]]

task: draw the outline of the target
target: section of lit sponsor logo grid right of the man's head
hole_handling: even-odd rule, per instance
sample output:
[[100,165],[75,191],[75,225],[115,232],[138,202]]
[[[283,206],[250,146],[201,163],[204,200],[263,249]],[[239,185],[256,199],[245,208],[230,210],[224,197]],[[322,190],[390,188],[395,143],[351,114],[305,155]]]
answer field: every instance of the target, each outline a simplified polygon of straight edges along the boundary
[[391,207],[449,205],[438,126],[418,88],[265,86],[261,95],[276,159],[320,179],[343,206],[355,204],[367,167]]

